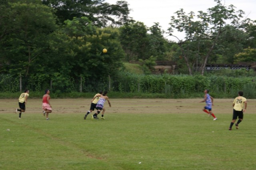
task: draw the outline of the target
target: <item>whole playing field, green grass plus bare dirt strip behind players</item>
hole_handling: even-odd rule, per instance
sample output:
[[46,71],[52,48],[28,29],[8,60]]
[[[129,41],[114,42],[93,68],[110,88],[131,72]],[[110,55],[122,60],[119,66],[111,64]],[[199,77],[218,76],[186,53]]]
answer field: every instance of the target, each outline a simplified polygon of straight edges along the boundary
[[[83,119],[91,99],[0,99],[1,170],[254,170],[256,100],[239,129],[228,130],[233,99],[110,99],[105,120]],[[91,115],[91,114],[90,114]],[[89,116],[90,116],[89,115]],[[100,117],[100,116],[98,116]]]

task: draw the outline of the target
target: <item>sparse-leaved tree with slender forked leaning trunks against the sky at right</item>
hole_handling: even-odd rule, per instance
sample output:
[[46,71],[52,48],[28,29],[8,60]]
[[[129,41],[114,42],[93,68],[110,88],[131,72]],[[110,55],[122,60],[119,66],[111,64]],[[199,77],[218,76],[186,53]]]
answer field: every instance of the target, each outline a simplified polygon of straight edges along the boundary
[[[172,35],[174,29],[178,30],[178,32],[185,33],[185,40],[178,39],[178,44],[180,45],[181,55],[186,62],[190,75],[192,75],[192,63],[190,62],[190,57],[193,57],[193,55],[190,55],[190,51],[194,51],[190,47],[197,49],[198,52],[196,55],[200,54],[198,59],[201,57],[199,63],[201,64],[200,70],[203,75],[206,63],[213,55],[214,48],[216,47],[220,34],[222,34],[223,27],[232,25],[238,29],[244,22],[249,21],[249,19],[242,22],[240,21],[244,14],[242,10],[236,12],[233,5],[226,7],[221,4],[221,0],[214,1],[217,3],[216,6],[208,8],[207,13],[199,11],[197,20],[195,21],[194,12],[190,12],[186,15],[183,9],[176,12],[177,19],[174,16],[171,17],[170,28],[168,29],[170,35],[174,36]],[[226,23],[228,21],[230,21],[230,24]],[[192,45],[191,42],[197,43]],[[201,52],[203,48],[200,48],[200,46],[202,44],[204,44],[204,49],[206,48],[207,51]]]

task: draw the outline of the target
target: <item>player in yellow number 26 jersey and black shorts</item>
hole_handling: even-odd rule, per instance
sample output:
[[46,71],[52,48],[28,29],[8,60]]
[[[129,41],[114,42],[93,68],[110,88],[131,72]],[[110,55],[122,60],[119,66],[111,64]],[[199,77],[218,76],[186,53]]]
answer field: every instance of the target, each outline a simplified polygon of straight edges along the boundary
[[246,111],[247,101],[246,101],[246,98],[243,97],[243,95],[244,95],[244,93],[242,91],[238,91],[238,97],[236,97],[236,99],[234,99],[233,119],[230,123],[228,130],[232,130],[232,126],[234,125],[237,117],[238,117],[238,121],[236,123],[236,129],[238,129],[238,124],[240,122],[242,122],[242,120],[244,118],[244,112]]

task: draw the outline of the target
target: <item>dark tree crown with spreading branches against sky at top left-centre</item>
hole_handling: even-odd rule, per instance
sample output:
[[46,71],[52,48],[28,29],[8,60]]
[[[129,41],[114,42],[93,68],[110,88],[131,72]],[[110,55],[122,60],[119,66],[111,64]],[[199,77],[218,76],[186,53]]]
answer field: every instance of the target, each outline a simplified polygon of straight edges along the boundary
[[104,0],[42,0],[54,10],[61,23],[74,17],[87,17],[93,25],[106,27],[109,25],[123,25],[128,22],[129,8],[126,1],[108,4]]

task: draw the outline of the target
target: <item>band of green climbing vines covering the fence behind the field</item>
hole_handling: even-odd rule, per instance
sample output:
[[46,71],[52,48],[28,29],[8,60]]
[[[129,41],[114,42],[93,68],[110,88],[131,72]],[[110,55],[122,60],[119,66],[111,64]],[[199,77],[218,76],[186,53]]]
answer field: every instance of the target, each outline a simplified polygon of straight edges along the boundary
[[[22,87],[22,88],[21,88]],[[125,93],[163,93],[168,96],[197,93],[210,89],[214,93],[237,93],[243,90],[248,96],[256,93],[255,77],[226,77],[203,75],[137,75],[120,72],[115,77],[102,80],[90,80],[62,77],[61,75],[34,75],[29,78],[20,76],[0,75],[1,92],[19,92],[28,88],[30,91],[51,89],[58,93],[96,92],[99,89]]]

